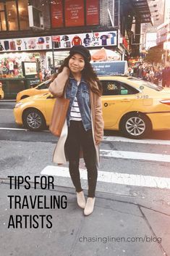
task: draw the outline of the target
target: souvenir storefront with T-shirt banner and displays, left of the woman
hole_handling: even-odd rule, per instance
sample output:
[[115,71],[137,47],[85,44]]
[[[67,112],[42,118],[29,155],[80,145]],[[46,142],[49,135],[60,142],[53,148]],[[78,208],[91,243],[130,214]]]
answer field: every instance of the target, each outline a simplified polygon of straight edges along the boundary
[[51,36],[0,40],[0,75],[21,77],[22,62],[37,62],[46,69],[46,51],[52,49]]

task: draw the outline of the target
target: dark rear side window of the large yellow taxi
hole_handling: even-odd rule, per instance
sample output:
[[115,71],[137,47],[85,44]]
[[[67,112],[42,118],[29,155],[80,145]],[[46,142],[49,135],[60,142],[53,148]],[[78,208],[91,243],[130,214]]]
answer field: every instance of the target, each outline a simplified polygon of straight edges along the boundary
[[119,81],[102,80],[101,83],[103,86],[103,95],[128,95],[139,93],[137,89]]

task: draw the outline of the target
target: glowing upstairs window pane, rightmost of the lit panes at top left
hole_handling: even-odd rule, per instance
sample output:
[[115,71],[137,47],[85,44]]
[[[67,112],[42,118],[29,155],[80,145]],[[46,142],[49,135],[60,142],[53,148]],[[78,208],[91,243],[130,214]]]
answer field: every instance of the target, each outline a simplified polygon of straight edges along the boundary
[[18,1],[18,12],[19,12],[19,19],[20,19],[20,30],[29,29],[27,1],[23,1],[23,0]]

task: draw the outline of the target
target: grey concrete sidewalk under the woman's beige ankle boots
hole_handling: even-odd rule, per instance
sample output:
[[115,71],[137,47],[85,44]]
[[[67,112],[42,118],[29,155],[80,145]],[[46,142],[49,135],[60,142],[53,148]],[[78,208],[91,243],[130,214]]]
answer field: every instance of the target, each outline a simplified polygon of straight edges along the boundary
[[[55,186],[54,190],[34,188],[27,190],[22,186],[20,190],[10,190],[6,181],[0,183],[0,195],[0,255],[170,255],[170,216],[135,205],[133,202],[128,202],[128,199],[122,201],[112,194],[97,192],[95,210],[92,215],[85,217],[83,210],[77,206],[75,189]],[[47,205],[51,196],[66,196],[67,208],[37,210],[35,207],[34,210],[27,208],[10,210],[8,195],[21,197],[31,195],[32,198],[35,195],[46,195]],[[16,215],[32,215],[32,217],[52,215],[52,228],[25,228],[24,222],[22,228],[8,228],[9,215],[14,215],[14,218]],[[46,224],[46,221],[44,223]],[[157,241],[155,241],[156,236]],[[140,238],[140,241],[135,241],[137,238]]]

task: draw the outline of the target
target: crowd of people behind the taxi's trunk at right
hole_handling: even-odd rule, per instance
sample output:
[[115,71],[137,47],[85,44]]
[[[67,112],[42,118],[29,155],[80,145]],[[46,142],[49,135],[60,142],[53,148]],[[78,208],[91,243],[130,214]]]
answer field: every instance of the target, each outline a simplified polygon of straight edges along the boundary
[[143,63],[129,67],[127,75],[132,75],[135,78],[147,80],[148,82],[155,83],[157,86],[170,87],[170,65],[149,65]]

